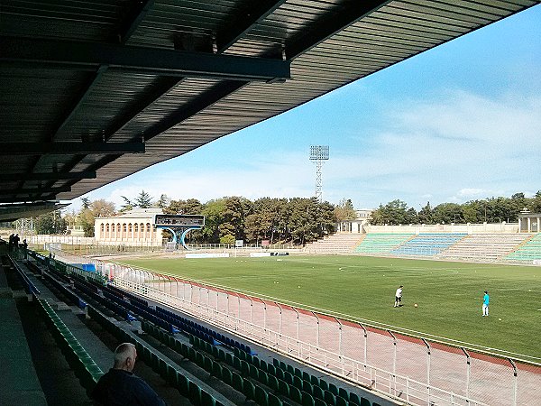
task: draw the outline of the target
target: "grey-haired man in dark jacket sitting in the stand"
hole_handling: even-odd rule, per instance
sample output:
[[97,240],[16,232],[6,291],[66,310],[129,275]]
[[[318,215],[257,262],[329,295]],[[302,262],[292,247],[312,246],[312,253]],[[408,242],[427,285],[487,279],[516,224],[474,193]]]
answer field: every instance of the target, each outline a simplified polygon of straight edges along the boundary
[[133,344],[123,343],[116,347],[113,368],[99,379],[92,391],[96,404],[165,406],[165,401],[148,383],[133,374],[136,358],[137,350]]

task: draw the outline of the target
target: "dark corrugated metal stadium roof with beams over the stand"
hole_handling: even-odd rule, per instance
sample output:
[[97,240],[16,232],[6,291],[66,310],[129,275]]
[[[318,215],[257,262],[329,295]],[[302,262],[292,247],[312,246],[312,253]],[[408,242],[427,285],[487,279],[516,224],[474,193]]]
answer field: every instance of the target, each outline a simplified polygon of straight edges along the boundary
[[0,203],[77,198],[538,3],[3,2]]

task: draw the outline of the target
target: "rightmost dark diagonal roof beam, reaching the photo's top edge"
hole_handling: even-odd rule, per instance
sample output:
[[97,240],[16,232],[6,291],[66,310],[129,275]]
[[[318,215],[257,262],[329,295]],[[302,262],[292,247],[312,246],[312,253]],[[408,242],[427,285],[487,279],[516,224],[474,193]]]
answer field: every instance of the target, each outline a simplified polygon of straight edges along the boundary
[[357,23],[363,17],[379,10],[382,6],[388,5],[392,0],[350,0],[341,6],[335,13],[317,21],[309,27],[298,38],[293,38],[285,44],[286,59],[293,60],[299,55],[314,48],[316,45],[324,42],[337,32]]

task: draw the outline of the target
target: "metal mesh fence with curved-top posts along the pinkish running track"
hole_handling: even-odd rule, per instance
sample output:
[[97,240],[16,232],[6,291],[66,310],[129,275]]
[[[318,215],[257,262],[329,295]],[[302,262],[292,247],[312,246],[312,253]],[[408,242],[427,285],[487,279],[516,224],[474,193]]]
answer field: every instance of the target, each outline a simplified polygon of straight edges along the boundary
[[[56,257],[81,262],[62,252]],[[449,406],[538,403],[541,364],[535,362],[411,337],[197,281],[85,261],[96,263],[98,272],[122,289],[400,401]]]

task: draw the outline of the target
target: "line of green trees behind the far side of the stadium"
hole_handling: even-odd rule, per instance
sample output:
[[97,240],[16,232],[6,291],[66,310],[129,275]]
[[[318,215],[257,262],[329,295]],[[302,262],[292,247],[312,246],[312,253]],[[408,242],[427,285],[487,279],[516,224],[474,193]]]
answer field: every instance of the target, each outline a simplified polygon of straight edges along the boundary
[[[192,242],[233,244],[235,240],[247,243],[269,240],[271,244],[291,242],[306,244],[323,235],[335,232],[335,224],[356,217],[351,199],[342,199],[337,205],[319,202],[316,198],[216,198],[202,203],[197,198],[175,200],[162,194],[154,199],[144,190],[135,198],[123,197],[124,204],[116,210],[115,204],[82,198],[82,208],[76,212],[50,213],[35,221],[38,234],[62,234],[67,226],[82,226],[85,235],[94,236],[94,219],[112,217],[133,208],[161,208],[167,214],[203,215],[206,225],[190,233]],[[516,193],[510,198],[486,198],[463,204],[442,203],[432,207],[409,208],[395,199],[372,211],[373,225],[408,224],[466,224],[514,223],[524,208],[541,212],[541,191],[532,198]]]

